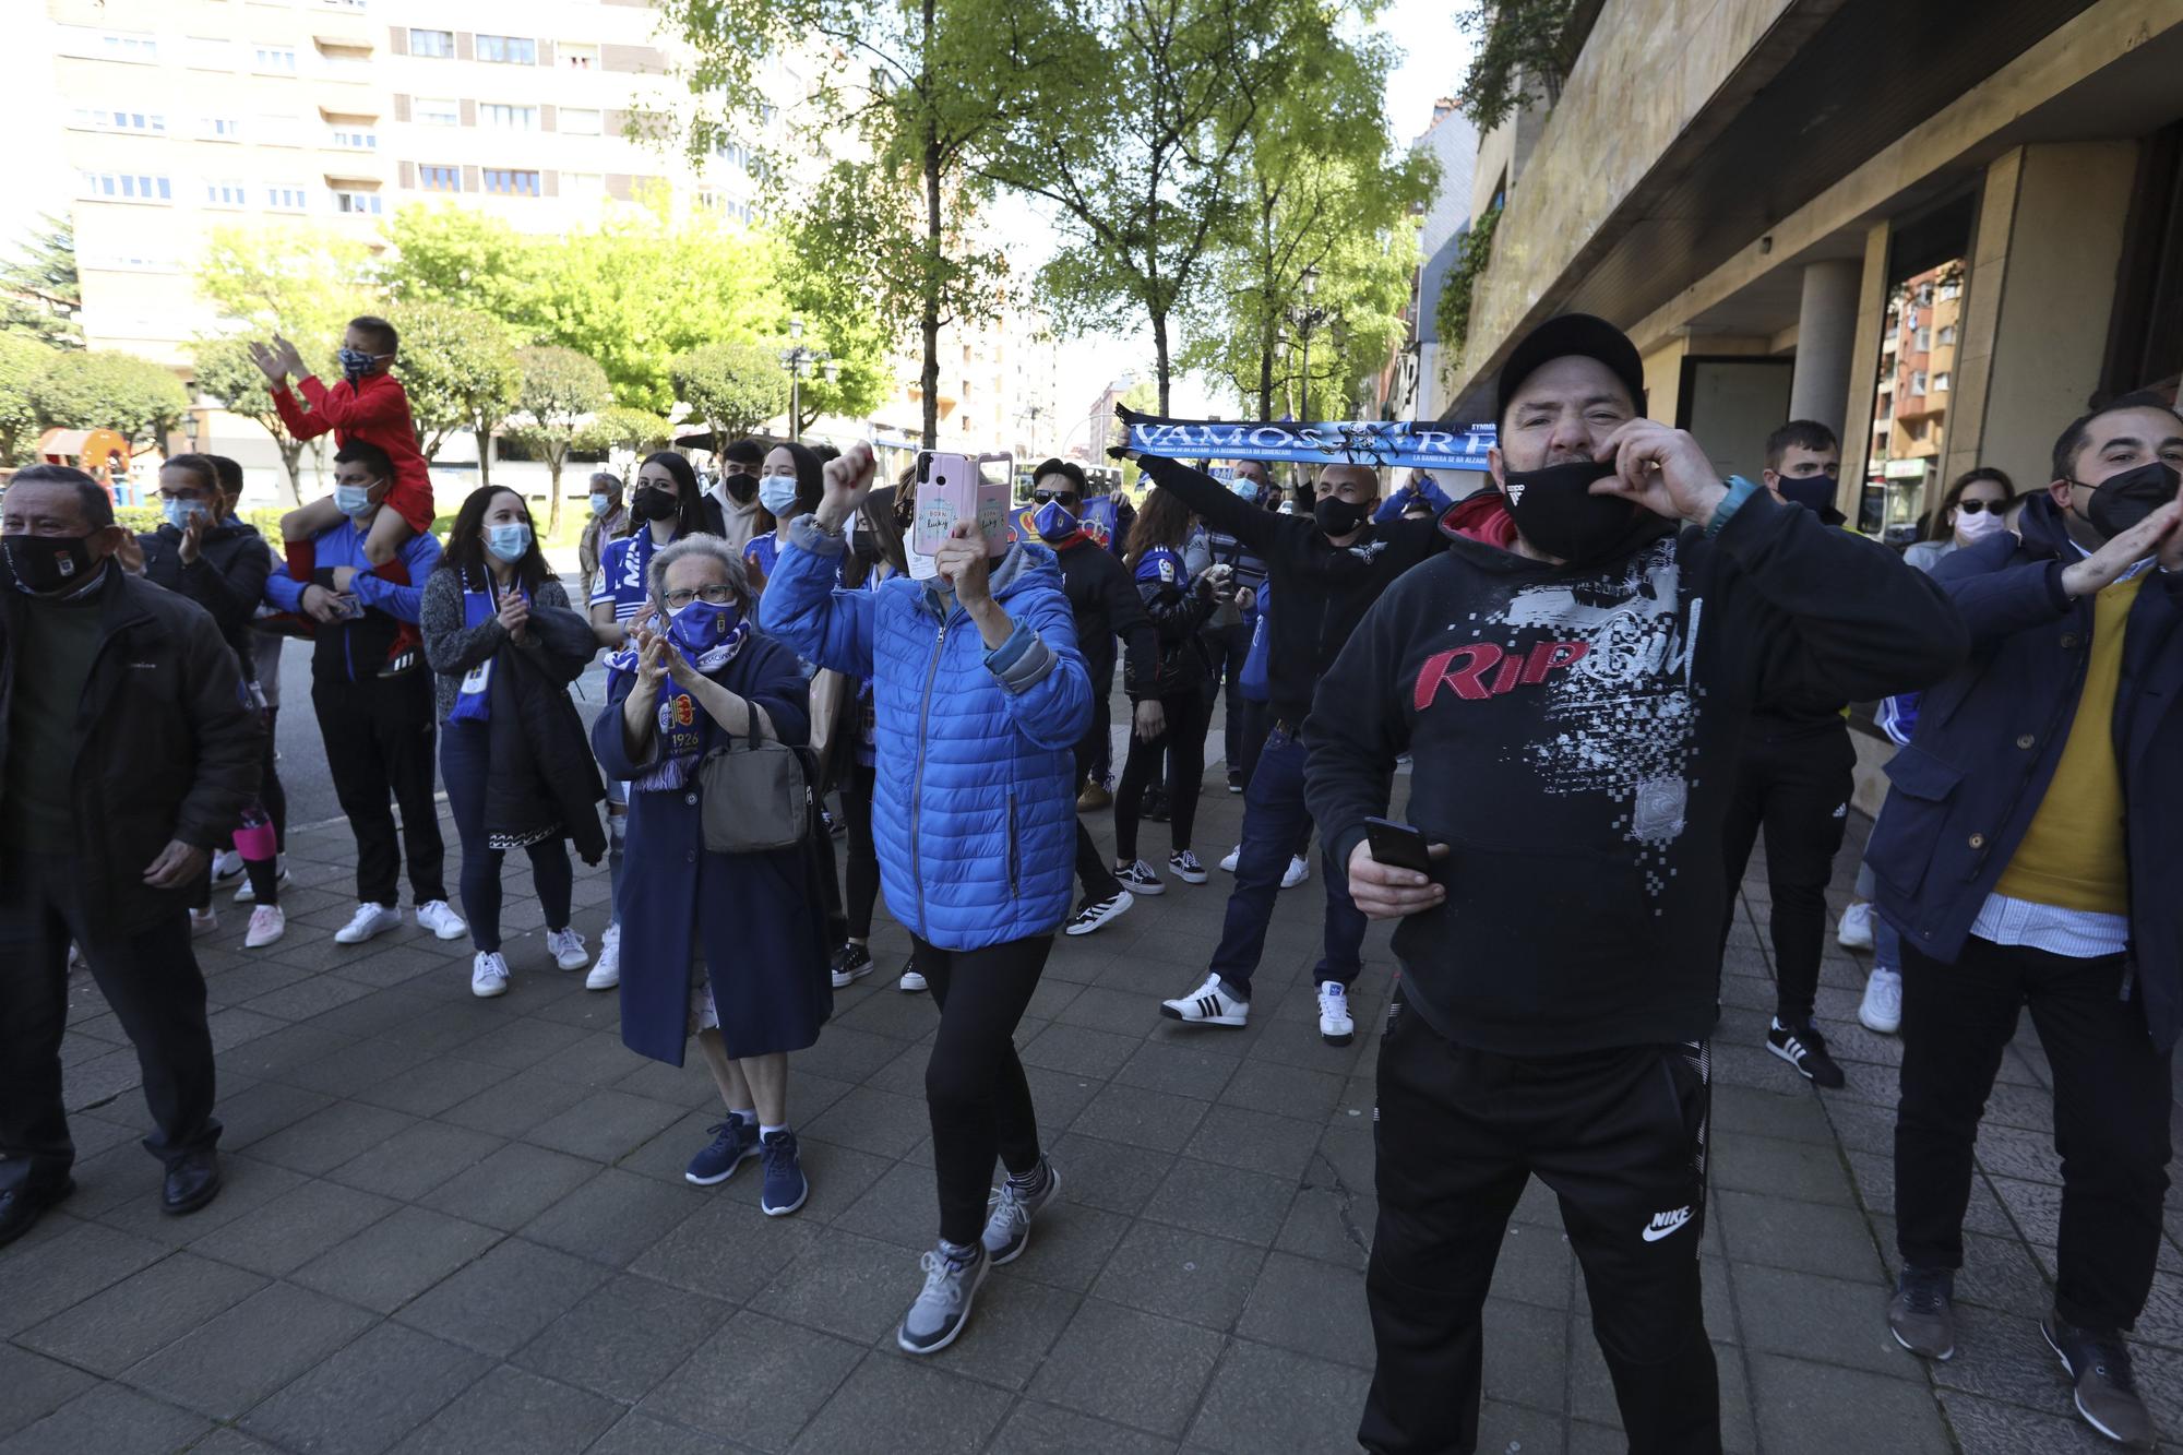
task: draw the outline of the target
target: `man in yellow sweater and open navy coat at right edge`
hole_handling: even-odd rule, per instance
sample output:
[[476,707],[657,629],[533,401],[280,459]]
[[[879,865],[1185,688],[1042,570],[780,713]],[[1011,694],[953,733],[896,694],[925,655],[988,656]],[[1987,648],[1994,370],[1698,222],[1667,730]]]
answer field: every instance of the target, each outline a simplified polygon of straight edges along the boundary
[[2076,1409],[2157,1442],[2124,1333],[2152,1287],[2183,1031],[2183,417],[2137,393],[2076,419],[2017,535],[1934,577],[1971,662],[1925,693],[1866,863],[1904,939],[1895,1339],[1956,1352],[1971,1149],[2030,1007],[2061,1154],[2054,1309]]

